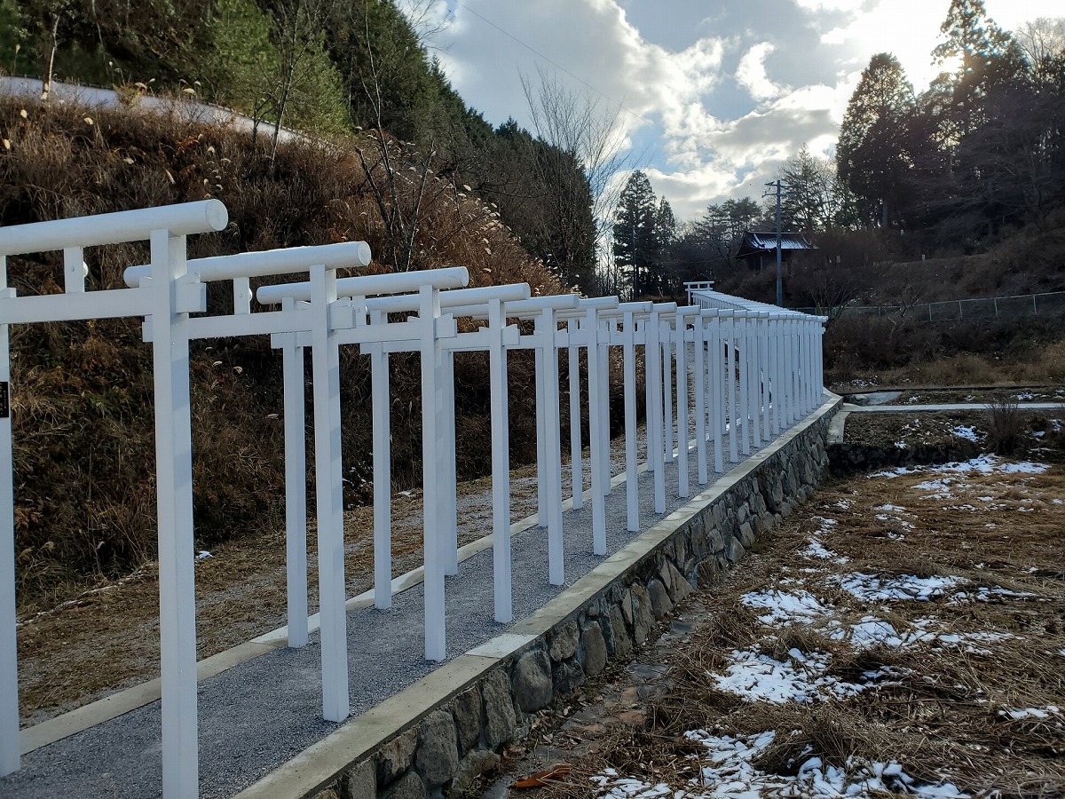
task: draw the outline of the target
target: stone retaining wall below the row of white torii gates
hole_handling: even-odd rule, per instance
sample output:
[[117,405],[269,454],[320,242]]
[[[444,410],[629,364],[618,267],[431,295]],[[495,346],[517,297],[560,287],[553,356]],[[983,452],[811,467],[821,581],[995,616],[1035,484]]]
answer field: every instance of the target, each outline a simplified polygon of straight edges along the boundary
[[[786,437],[776,452],[740,464],[726,475],[726,479],[738,475],[734,485],[623,572],[604,578],[602,588],[590,596],[578,591],[568,598],[563,592],[541,608],[530,625],[523,625],[536,630],[536,616],[551,608],[550,626],[541,626],[542,632],[529,636],[531,640],[524,646],[486,667],[435,706],[425,707],[416,721],[383,746],[372,752],[350,752],[349,766],[304,796],[426,799],[460,795],[498,764],[505,744],[528,733],[537,711],[596,676],[608,661],[627,658],[675,603],[695,588],[721,580],[760,533],[813,493],[829,464],[825,441],[832,411],[825,406],[804,429],[790,440]],[[641,538],[669,523],[667,517]],[[562,607],[559,615],[559,601],[569,601],[572,607]]]

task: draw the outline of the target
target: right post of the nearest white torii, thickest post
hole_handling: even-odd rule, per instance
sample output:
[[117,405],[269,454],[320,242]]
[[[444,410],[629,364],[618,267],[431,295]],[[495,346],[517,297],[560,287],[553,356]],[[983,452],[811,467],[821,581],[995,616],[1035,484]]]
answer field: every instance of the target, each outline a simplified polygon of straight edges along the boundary
[[178,311],[174,291],[185,274],[185,238],[152,230],[150,242],[163,795],[192,799],[199,795],[199,740],[189,314]]

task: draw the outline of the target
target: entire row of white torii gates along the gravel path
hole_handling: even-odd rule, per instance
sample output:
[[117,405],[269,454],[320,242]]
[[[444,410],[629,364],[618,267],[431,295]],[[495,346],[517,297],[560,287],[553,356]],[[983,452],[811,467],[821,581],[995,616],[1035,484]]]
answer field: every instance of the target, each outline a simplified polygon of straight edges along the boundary
[[[562,585],[562,462],[559,373],[568,372],[572,506],[586,500],[581,455],[581,374],[588,391],[588,492],[593,553],[607,554],[605,498],[610,493],[609,380],[611,349],[621,353],[627,528],[640,529],[637,493],[637,353],[645,366],[648,469],[655,510],[666,509],[665,471],[675,463],[678,493],[689,494],[690,453],[698,478],[724,471],[815,408],[821,394],[822,320],[773,306],[677,307],[619,303],[615,297],[530,297],[526,284],[463,289],[462,267],[338,278],[365,266],[362,242],[186,260],[190,234],[218,231],[228,213],[217,200],[0,228],[0,684],[17,686],[12,423],[6,412],[12,324],[143,317],[153,352],[162,649],[163,794],[198,792],[194,520],[190,412],[190,342],[263,336],[283,358],[289,645],[308,642],[307,498],[304,352],[313,375],[317,578],[323,716],[349,714],[341,470],[340,347],[370,356],[373,398],[374,597],[392,599],[389,356],[421,356],[425,653],[446,656],[445,582],[458,571],[455,476],[454,355],[487,353],[492,420],[494,613],[512,619],[510,567],[507,356],[536,359],[538,522],[546,528],[547,577]],[[150,263],[126,271],[126,289],[86,291],[84,248],[147,241]],[[7,288],[6,258],[63,251],[64,292],[17,296]],[[305,273],[306,281],[260,286],[252,278]],[[230,281],[231,313],[207,311],[207,283]],[[709,293],[712,294],[712,293]],[[733,307],[723,307],[732,303]],[[736,306],[741,307],[736,307]],[[460,332],[456,320],[484,325]],[[399,320],[399,321],[397,321]],[[508,321],[531,320],[528,325]],[[581,369],[580,349],[584,349]],[[564,355],[564,364],[560,362]],[[732,379],[730,379],[730,375]],[[689,441],[693,394],[694,445]],[[710,457],[712,453],[712,463]],[[0,774],[19,768],[18,697],[0,692]]]

